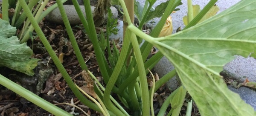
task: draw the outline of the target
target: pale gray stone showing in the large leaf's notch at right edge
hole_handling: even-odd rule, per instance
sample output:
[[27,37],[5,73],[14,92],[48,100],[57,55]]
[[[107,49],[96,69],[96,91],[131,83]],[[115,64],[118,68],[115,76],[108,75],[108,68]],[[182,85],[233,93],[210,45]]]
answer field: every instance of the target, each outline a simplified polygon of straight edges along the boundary
[[249,81],[256,82],[256,59],[252,57],[244,58],[237,56],[233,61],[226,64],[223,74],[242,83],[245,78]]

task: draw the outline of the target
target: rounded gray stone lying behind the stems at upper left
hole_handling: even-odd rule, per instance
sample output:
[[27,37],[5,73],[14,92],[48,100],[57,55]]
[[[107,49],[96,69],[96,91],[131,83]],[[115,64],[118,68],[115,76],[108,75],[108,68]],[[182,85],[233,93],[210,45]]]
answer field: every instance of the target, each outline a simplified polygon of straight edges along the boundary
[[[111,6],[110,8],[113,13],[113,18],[117,18],[118,17],[117,9],[113,6]],[[71,25],[81,24],[81,20],[79,19],[76,9],[73,5],[64,5],[64,9]],[[84,16],[86,16],[84,6],[80,6],[80,9],[83,12]],[[94,9],[95,7],[91,6],[92,12],[94,11]],[[58,8],[52,10],[52,12],[50,12],[45,18],[46,20],[52,23],[64,24],[63,19],[61,17],[61,13]]]

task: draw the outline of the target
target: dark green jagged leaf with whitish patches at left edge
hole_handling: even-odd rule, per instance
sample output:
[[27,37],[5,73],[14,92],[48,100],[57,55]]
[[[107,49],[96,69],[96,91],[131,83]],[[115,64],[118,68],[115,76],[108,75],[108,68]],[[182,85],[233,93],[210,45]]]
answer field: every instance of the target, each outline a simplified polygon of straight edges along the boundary
[[32,50],[26,46],[26,43],[20,44],[19,39],[13,36],[15,32],[15,27],[0,19],[0,66],[34,75],[33,69],[39,60],[30,58],[33,54]]

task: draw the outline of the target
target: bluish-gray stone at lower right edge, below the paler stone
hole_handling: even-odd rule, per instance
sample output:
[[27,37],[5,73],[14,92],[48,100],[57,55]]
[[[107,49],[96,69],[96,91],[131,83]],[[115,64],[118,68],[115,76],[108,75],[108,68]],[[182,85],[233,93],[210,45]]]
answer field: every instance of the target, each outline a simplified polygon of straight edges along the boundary
[[231,91],[238,93],[241,99],[243,99],[247,104],[250,104],[254,110],[256,110],[256,91],[251,90],[247,87],[235,88],[231,85],[227,86]]

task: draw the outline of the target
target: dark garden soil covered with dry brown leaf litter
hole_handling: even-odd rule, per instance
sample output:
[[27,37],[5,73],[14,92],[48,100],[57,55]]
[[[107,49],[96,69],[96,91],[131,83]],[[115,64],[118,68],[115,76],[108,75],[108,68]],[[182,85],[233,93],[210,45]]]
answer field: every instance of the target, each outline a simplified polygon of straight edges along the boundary
[[[67,31],[63,25],[49,23],[46,20],[43,20],[40,23],[41,29],[47,37],[49,43],[51,44],[55,54],[59,57],[60,60],[63,58],[63,66],[69,73],[70,77],[73,81],[79,86],[82,87],[85,84],[84,78],[81,75],[81,67],[79,62],[77,61],[76,55],[73,51],[73,47],[71,46],[69,37],[67,35]],[[104,29],[102,26],[99,29]],[[96,62],[96,58],[93,51],[93,46],[90,42],[90,38],[88,38],[87,34],[84,32],[82,26],[73,26],[73,33],[76,37],[76,41],[79,45],[81,53],[83,55],[84,61],[86,61],[87,67],[89,70],[95,75],[99,81],[102,81],[102,76],[99,72],[99,67]],[[19,33],[19,29],[17,30]],[[35,75],[33,77],[29,77],[23,73],[19,73],[17,71],[3,68],[1,70],[1,74],[5,77],[11,79],[17,84],[22,85],[26,89],[38,94],[38,96],[43,99],[51,102],[52,104],[58,103],[70,103],[71,99],[76,106],[81,107],[86,113],[90,116],[102,116],[101,113],[91,110],[86,105],[79,102],[79,99],[74,96],[70,88],[67,86],[64,78],[61,76],[61,73],[55,67],[52,59],[44,48],[40,38],[36,37],[36,33],[33,32],[34,39],[33,42],[29,40],[27,45],[33,49],[34,55],[33,58],[38,58],[39,61],[38,67],[35,68]],[[120,46],[122,44],[111,44],[111,46],[116,45],[120,50],[122,49]],[[40,83],[41,76],[39,72],[44,72],[44,75],[47,76],[46,80],[41,81],[41,89],[37,90],[36,87],[38,83]],[[152,72],[154,72],[152,70]],[[154,73],[156,76],[156,73]],[[152,80],[151,76],[148,75],[148,87],[151,86]],[[171,92],[166,89],[163,85],[159,90],[154,94],[154,111],[155,114],[160,110],[161,105],[165,101],[165,99],[169,96]],[[115,97],[115,94],[112,94]],[[118,99],[118,97],[115,97]],[[117,100],[118,101],[118,100]],[[66,104],[57,105],[63,110],[67,112],[71,112],[72,107]],[[166,111],[166,114],[170,110],[170,106]],[[129,110],[126,108],[129,112]],[[86,116],[81,110],[75,108],[74,112],[77,116]],[[35,104],[29,102],[26,99],[21,98],[16,93],[8,90],[6,87],[0,85],[0,113],[2,116],[52,116],[51,113],[46,110],[36,106]],[[180,116],[185,116],[186,114],[186,103],[184,103]],[[195,104],[192,109],[192,116],[200,116],[198,113],[198,109]]]

